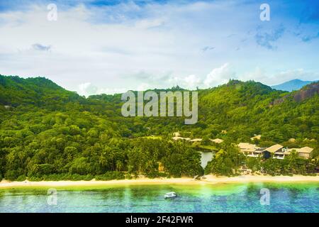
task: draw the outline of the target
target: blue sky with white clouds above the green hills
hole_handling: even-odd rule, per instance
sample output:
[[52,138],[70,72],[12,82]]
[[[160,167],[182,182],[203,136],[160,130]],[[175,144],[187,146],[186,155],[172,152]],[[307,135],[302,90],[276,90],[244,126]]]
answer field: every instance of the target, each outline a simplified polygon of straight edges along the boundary
[[0,74],[85,96],[318,80],[319,1],[0,0]]

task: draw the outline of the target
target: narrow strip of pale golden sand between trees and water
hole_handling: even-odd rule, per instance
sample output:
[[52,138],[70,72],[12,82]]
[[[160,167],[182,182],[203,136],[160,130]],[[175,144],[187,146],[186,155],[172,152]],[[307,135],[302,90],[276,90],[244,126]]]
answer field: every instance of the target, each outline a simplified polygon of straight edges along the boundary
[[238,177],[216,177],[215,175],[205,175],[206,179],[193,179],[190,177],[181,178],[138,178],[138,179],[113,179],[109,181],[42,181],[42,182],[8,182],[2,180],[0,189],[32,188],[32,187],[103,187],[103,186],[123,186],[123,185],[149,185],[149,184],[231,184],[231,183],[262,183],[262,182],[319,182],[317,176],[293,175],[289,176],[260,176],[260,175],[242,175]]

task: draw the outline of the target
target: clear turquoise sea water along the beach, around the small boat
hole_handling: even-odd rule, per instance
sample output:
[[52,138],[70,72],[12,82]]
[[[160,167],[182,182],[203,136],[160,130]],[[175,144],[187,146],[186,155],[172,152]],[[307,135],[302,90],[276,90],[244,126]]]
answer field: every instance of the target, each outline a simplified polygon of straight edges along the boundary
[[[262,205],[260,189],[270,193]],[[164,199],[166,192],[178,197]],[[0,212],[319,212],[318,184],[125,185],[99,189],[1,189]],[[50,200],[51,201],[51,200]]]

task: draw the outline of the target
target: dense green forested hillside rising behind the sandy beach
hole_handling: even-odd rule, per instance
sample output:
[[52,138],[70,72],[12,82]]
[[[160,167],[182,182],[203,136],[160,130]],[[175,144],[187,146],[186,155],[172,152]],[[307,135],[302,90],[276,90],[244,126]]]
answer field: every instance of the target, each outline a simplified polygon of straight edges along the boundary
[[[255,134],[262,139],[254,143],[262,145],[309,145],[317,149],[315,158],[318,91],[318,83],[289,93],[231,80],[198,90],[198,123],[185,125],[184,118],[177,117],[124,118],[121,94],[86,99],[42,77],[0,75],[0,178],[121,179],[203,173],[198,146],[173,142],[175,131],[204,141],[222,138],[225,144],[208,146],[226,156],[229,151],[234,157],[230,167],[245,162],[234,144],[249,142]],[[296,140],[289,142],[290,138]]]

